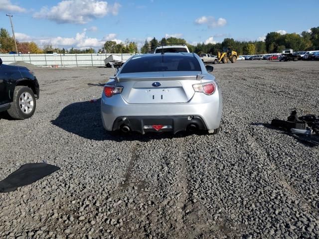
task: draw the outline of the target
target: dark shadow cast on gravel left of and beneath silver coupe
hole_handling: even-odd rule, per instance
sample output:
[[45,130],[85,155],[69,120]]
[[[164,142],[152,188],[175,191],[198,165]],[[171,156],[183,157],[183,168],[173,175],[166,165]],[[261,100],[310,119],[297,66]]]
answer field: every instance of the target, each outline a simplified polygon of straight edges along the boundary
[[135,132],[119,132],[116,135],[112,135],[103,127],[100,105],[101,99],[93,103],[86,101],[70,104],[60,112],[56,119],[51,120],[51,123],[70,133],[92,140],[114,140],[119,142],[138,140],[145,142],[152,139],[178,138],[193,134],[190,132],[176,134],[162,132],[141,135]]

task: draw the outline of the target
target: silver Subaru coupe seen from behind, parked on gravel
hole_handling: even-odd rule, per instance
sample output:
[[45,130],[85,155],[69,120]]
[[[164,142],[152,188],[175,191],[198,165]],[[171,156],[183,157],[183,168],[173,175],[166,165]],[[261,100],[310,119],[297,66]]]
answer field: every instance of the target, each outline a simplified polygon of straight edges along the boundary
[[194,53],[131,57],[104,86],[103,126],[108,131],[205,130],[218,133],[222,95],[215,77]]

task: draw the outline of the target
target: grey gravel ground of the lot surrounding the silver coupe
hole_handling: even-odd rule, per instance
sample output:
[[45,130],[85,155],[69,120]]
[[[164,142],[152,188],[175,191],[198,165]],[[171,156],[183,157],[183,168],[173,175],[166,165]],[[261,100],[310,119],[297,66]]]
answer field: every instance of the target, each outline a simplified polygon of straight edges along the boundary
[[89,102],[111,69],[34,68],[34,116],[0,119],[0,179],[29,162],[61,169],[0,194],[0,238],[319,238],[319,148],[267,124],[319,114],[319,62],[214,68],[218,135],[117,137]]

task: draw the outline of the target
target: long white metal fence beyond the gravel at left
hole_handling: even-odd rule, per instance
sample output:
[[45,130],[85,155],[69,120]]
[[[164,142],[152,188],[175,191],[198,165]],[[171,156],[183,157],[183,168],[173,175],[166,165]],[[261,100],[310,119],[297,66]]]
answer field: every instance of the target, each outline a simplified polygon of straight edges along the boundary
[[[77,67],[104,66],[104,59],[112,54],[0,54],[3,64],[23,61],[36,66]],[[127,60],[135,54],[113,54]]]

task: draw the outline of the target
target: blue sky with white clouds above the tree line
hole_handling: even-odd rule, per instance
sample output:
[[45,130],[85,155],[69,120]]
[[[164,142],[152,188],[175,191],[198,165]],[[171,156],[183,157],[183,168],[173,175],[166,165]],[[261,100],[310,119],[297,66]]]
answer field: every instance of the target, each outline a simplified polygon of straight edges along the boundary
[[300,33],[319,26],[318,9],[319,0],[0,0],[0,27],[11,34],[11,13],[18,41],[66,49],[169,36],[196,45]]

